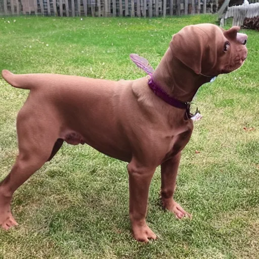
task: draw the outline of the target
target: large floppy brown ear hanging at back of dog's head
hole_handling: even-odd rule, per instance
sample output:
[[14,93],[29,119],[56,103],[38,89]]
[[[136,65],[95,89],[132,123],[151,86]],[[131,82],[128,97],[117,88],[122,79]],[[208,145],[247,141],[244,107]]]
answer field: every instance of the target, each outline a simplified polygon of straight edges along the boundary
[[184,27],[172,37],[172,54],[196,74],[201,73],[203,52],[207,45],[207,35],[201,29],[191,25]]

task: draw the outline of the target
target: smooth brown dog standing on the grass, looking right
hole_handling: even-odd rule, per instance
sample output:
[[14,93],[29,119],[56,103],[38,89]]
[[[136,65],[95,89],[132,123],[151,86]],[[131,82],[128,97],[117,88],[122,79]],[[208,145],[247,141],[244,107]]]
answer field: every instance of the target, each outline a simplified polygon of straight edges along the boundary
[[[178,218],[189,215],[173,199],[181,150],[193,130],[184,102],[192,101],[211,77],[243,64],[247,36],[238,30],[224,31],[212,24],[183,28],[172,37],[151,84],[149,76],[109,81],[58,74],[14,75],[3,70],[7,82],[30,93],[17,116],[19,155],[0,185],[2,228],[17,224],[10,211],[15,190],[56,154],[63,141],[87,143],[128,162],[130,220],[137,240],[156,238],[145,218],[149,185],[158,165],[163,206]],[[157,90],[176,103],[168,104]]]

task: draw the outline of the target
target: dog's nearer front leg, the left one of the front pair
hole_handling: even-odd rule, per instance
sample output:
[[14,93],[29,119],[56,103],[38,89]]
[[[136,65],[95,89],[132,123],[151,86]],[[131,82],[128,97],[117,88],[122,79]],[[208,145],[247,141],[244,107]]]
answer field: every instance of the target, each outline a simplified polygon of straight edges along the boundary
[[127,165],[130,184],[130,220],[133,236],[141,242],[156,239],[154,232],[146,224],[148,192],[155,168],[147,168],[131,162]]

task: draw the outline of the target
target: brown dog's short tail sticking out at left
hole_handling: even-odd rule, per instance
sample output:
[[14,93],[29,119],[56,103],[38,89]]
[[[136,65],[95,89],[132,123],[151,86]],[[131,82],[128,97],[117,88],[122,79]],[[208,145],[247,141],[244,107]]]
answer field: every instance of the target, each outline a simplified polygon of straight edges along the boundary
[[10,71],[4,69],[2,71],[2,76],[13,87],[28,90],[30,90],[33,87],[33,84],[30,82],[29,74],[15,75]]

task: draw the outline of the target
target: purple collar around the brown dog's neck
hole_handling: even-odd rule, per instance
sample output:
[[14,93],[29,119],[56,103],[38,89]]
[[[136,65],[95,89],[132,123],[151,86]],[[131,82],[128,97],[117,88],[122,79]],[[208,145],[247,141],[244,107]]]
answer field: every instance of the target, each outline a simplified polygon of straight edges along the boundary
[[148,85],[156,96],[158,96],[159,98],[161,98],[163,101],[165,101],[166,103],[168,103],[171,106],[174,106],[174,107],[180,108],[180,109],[185,109],[187,117],[191,118],[192,114],[190,113],[190,103],[189,102],[184,103],[184,102],[179,101],[179,100],[175,99],[174,97],[171,97],[168,94],[166,94],[159,87],[159,85],[154,82],[152,76],[150,76],[150,79],[148,80]]

